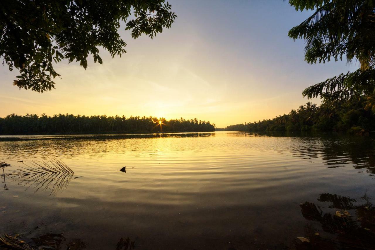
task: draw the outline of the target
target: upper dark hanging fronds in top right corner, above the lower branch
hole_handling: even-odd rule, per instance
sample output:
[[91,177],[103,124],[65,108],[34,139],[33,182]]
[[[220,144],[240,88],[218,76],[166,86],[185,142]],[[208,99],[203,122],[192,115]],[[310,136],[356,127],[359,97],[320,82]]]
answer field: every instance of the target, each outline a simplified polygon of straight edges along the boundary
[[290,0],[297,10],[314,14],[289,31],[293,39],[306,40],[305,60],[329,61],[331,57],[348,62],[359,60],[362,70],[375,62],[375,2],[372,0]]

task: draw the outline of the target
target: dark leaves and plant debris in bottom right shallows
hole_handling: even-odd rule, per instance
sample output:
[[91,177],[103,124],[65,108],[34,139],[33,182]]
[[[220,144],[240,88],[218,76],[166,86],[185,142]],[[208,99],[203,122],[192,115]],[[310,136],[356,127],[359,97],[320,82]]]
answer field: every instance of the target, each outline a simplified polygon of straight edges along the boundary
[[[365,201],[357,204],[359,201]],[[375,206],[363,196],[359,200],[336,194],[320,194],[318,201],[331,203],[328,208],[339,209],[335,213],[323,212],[319,205],[301,203],[303,217],[317,221],[323,231],[333,236],[326,239],[316,234],[311,226],[306,227],[309,244],[297,245],[298,249],[374,249]]]

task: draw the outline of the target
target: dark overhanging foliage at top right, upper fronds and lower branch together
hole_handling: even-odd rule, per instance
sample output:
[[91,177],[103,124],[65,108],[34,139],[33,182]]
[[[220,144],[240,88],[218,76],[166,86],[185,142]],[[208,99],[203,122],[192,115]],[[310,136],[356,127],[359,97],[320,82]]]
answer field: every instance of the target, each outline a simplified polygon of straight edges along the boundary
[[305,60],[325,63],[354,59],[360,69],[308,87],[303,96],[325,100],[347,100],[374,92],[375,87],[375,2],[372,0],[290,0],[296,10],[315,11],[293,27],[288,35],[305,39]]

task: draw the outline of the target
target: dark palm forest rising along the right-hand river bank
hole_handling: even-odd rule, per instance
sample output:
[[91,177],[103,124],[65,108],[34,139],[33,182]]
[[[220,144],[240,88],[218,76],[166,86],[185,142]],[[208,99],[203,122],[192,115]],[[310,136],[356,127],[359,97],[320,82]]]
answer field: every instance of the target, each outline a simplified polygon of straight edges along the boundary
[[368,134],[375,131],[374,101],[354,96],[349,101],[311,102],[273,119],[216,128],[217,131],[345,131]]

